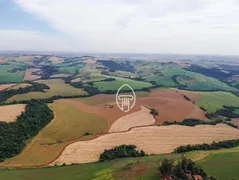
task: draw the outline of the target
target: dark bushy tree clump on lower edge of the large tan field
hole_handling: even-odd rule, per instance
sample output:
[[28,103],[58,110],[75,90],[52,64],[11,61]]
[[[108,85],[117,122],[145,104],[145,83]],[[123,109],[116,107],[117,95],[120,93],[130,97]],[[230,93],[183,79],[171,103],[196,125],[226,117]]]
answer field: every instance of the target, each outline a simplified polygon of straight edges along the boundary
[[100,161],[109,161],[109,160],[113,160],[116,158],[123,158],[123,157],[140,157],[145,155],[146,154],[144,151],[136,150],[135,145],[121,145],[111,149],[106,149],[100,155]]

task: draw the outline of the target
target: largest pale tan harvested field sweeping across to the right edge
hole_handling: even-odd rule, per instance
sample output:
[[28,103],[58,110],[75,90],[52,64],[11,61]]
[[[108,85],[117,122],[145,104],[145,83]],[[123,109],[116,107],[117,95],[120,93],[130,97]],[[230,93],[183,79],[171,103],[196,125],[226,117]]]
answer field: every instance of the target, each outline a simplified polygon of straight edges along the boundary
[[66,147],[52,165],[95,162],[105,149],[122,144],[135,144],[147,154],[163,154],[170,153],[182,145],[211,143],[238,139],[238,137],[239,131],[225,124],[195,127],[179,125],[141,127],[129,132],[112,133],[93,140],[73,143]]

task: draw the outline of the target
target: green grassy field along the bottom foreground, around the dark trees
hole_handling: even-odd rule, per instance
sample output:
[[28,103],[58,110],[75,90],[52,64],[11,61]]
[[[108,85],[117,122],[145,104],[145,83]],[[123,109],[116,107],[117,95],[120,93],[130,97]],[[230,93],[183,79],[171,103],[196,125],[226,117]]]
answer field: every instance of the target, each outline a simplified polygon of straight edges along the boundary
[[[239,178],[239,147],[213,151],[194,151],[187,153],[186,156],[196,161],[208,175],[213,175],[218,180],[236,180]],[[178,160],[181,157],[181,154],[165,154],[43,169],[3,169],[0,170],[0,179],[158,180],[158,167],[162,159]]]

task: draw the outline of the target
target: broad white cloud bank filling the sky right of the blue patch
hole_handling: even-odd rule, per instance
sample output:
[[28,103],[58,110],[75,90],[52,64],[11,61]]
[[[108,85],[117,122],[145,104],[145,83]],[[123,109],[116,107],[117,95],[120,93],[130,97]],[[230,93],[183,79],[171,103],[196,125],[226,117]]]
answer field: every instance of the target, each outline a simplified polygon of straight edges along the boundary
[[65,34],[72,42],[68,49],[91,52],[239,54],[237,0],[15,2]]

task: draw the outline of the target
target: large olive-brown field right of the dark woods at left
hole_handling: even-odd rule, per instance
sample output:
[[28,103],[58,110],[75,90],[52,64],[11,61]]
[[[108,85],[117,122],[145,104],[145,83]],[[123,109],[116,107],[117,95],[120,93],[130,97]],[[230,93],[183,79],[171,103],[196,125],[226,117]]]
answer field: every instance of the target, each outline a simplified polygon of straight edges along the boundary
[[[68,143],[76,139],[92,138],[107,128],[107,122],[102,117],[79,111],[64,101],[55,101],[49,106],[54,111],[54,119],[50,124],[19,155],[6,160],[0,166],[44,165],[56,158]],[[84,136],[86,132],[91,135]]]

